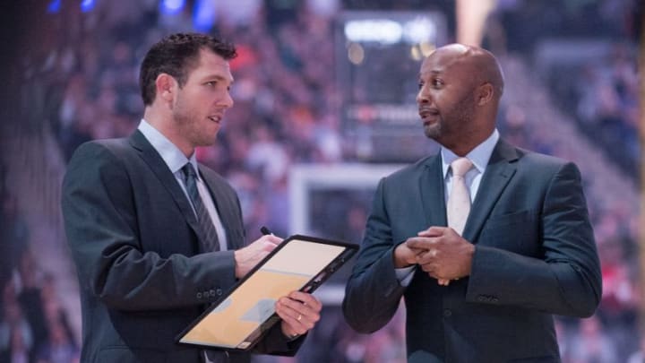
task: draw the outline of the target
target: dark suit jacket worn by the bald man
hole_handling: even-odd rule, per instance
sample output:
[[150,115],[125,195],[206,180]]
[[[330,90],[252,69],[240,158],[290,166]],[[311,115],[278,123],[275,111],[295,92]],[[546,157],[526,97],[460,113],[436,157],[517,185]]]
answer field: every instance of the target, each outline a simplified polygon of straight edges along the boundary
[[392,251],[446,226],[441,155],[381,180],[343,311],[361,333],[391,319],[405,297],[409,362],[558,362],[552,315],[589,316],[601,296],[593,230],[572,163],[500,141],[463,237],[469,278],[439,286],[417,269],[408,288]]

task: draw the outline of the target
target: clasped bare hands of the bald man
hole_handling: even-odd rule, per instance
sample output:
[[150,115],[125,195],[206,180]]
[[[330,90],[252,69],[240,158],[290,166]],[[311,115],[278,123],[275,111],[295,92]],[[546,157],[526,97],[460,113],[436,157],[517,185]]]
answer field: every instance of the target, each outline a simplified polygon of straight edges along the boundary
[[394,250],[397,268],[418,264],[424,272],[448,285],[470,274],[475,246],[449,227],[430,227]]

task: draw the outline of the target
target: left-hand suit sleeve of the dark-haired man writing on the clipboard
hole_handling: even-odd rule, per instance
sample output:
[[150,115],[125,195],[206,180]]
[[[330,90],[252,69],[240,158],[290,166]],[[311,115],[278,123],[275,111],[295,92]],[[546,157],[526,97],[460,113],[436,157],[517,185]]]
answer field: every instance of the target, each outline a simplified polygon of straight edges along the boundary
[[144,250],[134,193],[124,164],[105,146],[86,143],[75,152],[64,177],[62,207],[81,289],[107,307],[129,311],[198,306],[219,298],[235,281],[233,252],[162,258]]

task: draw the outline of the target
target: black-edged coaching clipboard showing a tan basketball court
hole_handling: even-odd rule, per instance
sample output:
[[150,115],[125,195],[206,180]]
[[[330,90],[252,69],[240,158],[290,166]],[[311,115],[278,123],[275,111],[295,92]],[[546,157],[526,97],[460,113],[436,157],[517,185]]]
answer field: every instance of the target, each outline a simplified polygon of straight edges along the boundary
[[313,292],[358,250],[357,245],[294,235],[190,324],[176,340],[223,350],[250,350],[273,324],[278,298]]

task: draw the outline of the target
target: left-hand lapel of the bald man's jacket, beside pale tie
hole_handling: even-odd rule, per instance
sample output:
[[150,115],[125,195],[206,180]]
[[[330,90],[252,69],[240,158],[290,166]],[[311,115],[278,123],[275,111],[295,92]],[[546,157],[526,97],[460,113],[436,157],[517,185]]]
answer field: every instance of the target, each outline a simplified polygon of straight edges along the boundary
[[419,180],[419,190],[426,226],[447,226],[441,154],[428,158],[425,167]]

